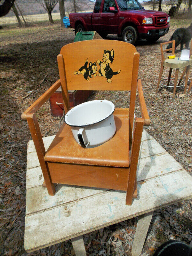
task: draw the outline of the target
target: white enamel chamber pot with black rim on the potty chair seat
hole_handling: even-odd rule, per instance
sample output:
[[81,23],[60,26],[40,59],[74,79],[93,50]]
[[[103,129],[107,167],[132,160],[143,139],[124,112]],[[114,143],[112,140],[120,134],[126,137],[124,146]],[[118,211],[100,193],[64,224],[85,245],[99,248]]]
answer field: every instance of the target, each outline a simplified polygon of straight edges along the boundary
[[92,148],[110,140],[116,132],[115,105],[109,100],[92,100],[77,105],[65,115],[65,123],[78,144]]

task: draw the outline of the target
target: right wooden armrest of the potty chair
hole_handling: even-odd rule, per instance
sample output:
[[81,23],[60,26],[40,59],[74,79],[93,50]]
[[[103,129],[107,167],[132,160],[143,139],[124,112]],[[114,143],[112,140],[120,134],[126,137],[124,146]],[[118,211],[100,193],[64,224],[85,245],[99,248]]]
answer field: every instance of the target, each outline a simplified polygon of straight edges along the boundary
[[140,79],[137,81],[137,88],[138,88],[139,105],[140,105],[141,116],[144,119],[144,126],[149,126],[150,123],[151,123],[151,120],[150,120],[148,112],[147,112],[147,107],[146,107],[146,104],[145,104],[145,99],[144,99],[144,96],[143,96],[143,89],[142,89]]

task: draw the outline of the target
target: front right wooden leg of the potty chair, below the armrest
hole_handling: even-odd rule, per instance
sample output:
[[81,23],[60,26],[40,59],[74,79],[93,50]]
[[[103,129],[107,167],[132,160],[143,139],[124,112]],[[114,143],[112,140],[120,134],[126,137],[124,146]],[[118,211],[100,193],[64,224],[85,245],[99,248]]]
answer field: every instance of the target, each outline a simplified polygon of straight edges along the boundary
[[131,157],[130,157],[130,169],[129,169],[129,179],[127,184],[127,194],[126,194],[126,205],[132,204],[134,185],[136,180],[137,164],[139,159],[141,137],[143,131],[143,118],[135,118],[133,139],[131,147]]

